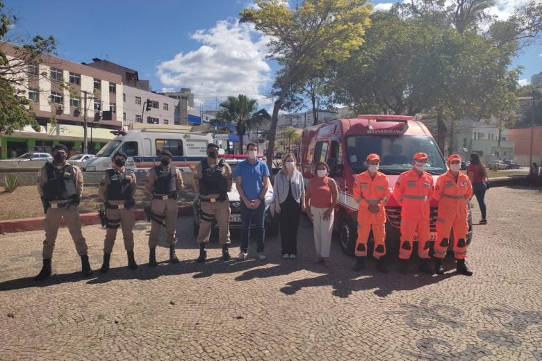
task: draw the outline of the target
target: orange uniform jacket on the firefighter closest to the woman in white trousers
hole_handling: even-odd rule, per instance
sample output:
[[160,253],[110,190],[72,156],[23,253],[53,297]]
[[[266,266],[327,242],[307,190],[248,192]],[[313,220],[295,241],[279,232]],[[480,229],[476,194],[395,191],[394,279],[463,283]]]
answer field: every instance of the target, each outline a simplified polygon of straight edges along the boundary
[[[359,203],[358,223],[384,224],[386,223],[386,210],[384,205],[391,194],[388,178],[377,171],[375,178],[371,178],[369,171],[356,176],[354,181],[354,200]],[[370,204],[378,205],[378,212],[369,212]]]

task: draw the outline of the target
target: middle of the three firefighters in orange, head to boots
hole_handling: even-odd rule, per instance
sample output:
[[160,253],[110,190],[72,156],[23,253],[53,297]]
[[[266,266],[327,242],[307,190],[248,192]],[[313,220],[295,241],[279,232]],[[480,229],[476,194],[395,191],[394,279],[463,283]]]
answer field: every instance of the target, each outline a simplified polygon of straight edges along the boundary
[[415,235],[418,238],[418,269],[426,274],[433,274],[429,266],[429,199],[433,195],[433,177],[425,171],[427,166],[426,153],[416,153],[413,157],[413,167],[404,171],[393,189],[393,196],[402,205],[401,210],[401,245],[399,258],[400,273],[408,271],[408,260],[412,255]]

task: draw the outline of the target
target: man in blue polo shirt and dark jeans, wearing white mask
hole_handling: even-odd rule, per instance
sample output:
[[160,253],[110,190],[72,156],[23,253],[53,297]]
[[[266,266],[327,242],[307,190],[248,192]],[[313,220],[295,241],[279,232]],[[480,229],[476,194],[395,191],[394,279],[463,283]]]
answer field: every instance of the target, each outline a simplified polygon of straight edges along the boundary
[[233,176],[236,180],[237,192],[241,199],[241,251],[237,260],[247,257],[249,248],[250,222],[254,219],[256,232],[258,232],[258,246],[256,256],[265,260],[263,254],[265,237],[265,194],[269,187],[269,168],[256,158],[258,146],[255,143],[247,144],[247,159],[240,162]]

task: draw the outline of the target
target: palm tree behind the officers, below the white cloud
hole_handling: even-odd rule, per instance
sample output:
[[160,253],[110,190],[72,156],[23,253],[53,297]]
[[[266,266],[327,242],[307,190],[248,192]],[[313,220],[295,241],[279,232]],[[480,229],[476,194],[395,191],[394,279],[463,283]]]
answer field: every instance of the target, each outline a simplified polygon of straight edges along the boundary
[[258,108],[256,99],[249,99],[245,94],[238,96],[228,96],[227,101],[220,103],[222,108],[213,119],[212,124],[235,124],[236,133],[239,136],[239,149],[243,153],[243,135],[247,131],[265,119],[271,119],[268,111]]

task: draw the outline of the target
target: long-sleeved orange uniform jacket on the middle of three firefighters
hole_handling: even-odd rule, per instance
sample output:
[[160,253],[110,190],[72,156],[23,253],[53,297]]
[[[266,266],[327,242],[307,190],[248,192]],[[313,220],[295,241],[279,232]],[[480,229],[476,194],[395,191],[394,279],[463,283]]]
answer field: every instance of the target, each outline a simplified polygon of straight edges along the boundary
[[418,176],[414,169],[397,178],[393,196],[402,205],[402,219],[429,219],[429,199],[433,195],[433,177],[424,171]]

